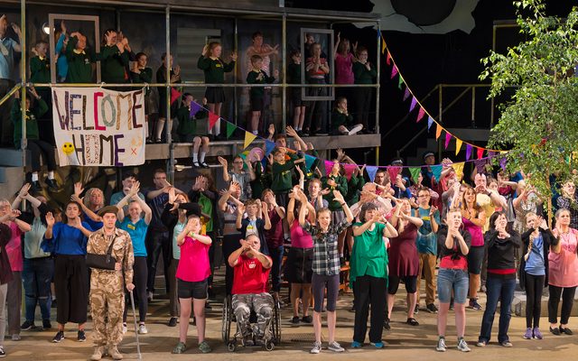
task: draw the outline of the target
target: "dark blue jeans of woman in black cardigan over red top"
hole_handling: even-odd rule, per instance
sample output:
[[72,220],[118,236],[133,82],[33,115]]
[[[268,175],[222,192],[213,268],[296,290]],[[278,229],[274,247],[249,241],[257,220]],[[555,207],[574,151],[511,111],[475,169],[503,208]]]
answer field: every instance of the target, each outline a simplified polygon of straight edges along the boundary
[[488,274],[486,281],[486,310],[481,319],[480,341],[489,342],[491,326],[494,323],[494,314],[499,305],[498,342],[508,341],[509,319],[511,319],[511,305],[516,289],[516,278],[503,279]]

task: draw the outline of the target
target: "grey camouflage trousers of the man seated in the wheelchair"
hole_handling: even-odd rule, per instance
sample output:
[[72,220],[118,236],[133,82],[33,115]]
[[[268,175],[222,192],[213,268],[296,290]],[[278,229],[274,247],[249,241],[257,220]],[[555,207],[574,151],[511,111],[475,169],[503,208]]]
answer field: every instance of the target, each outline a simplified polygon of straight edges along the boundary
[[[273,297],[269,293],[234,294],[232,299],[233,312],[237,318],[237,326],[243,337],[253,336],[256,339],[265,338],[270,332],[269,324],[273,317]],[[251,310],[256,313],[256,325],[251,329],[249,317]],[[268,336],[268,335],[267,335]]]

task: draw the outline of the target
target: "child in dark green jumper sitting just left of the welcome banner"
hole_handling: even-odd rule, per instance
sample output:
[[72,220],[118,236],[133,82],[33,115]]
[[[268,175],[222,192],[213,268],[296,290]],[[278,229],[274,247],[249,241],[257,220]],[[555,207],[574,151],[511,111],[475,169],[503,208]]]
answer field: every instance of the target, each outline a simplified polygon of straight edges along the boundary
[[[38,119],[42,117],[47,111],[48,106],[46,102],[39,97],[34,90],[34,87],[28,89],[26,96],[26,148],[32,153],[32,190],[40,191],[42,187],[38,180],[38,172],[41,169],[40,158],[44,158],[44,163],[48,167],[47,178],[44,183],[51,190],[58,190],[58,184],[54,179],[54,170],[56,170],[56,160],[54,158],[54,147],[47,142],[40,139],[38,131]],[[14,93],[14,106],[11,112],[12,123],[14,123],[14,146],[20,149],[22,141],[22,110],[20,105],[20,92]]]

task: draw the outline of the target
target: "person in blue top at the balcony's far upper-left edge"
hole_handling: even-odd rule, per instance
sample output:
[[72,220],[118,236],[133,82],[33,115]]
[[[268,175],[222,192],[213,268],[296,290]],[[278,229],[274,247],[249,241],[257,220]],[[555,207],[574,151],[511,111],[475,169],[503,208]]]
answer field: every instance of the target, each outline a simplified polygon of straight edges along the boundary
[[[8,19],[6,15],[0,16],[0,98],[4,97],[14,88],[14,52],[21,52],[20,42],[22,33],[15,23],[11,24],[12,29],[18,37],[18,42],[6,36],[8,30]],[[10,109],[12,102],[6,101],[0,105],[0,123],[2,124],[2,134],[0,143],[3,146],[14,146],[14,125],[10,121]]]

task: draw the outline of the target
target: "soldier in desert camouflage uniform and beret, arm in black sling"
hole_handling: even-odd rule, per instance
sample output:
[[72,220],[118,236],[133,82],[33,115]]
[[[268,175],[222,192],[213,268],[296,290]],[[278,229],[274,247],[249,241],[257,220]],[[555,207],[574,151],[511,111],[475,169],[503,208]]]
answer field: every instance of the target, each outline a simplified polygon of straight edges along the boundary
[[133,243],[126,231],[116,227],[117,211],[117,207],[108,206],[98,212],[103,227],[89,236],[87,245],[88,253],[107,255],[108,247],[113,242],[111,255],[117,260],[114,271],[93,268],[90,275],[90,310],[94,322],[95,343],[95,351],[90,359],[95,361],[102,358],[106,348],[113,359],[123,358],[117,348],[123,338],[122,321],[125,310],[123,286],[126,284],[128,291],[135,288]]

